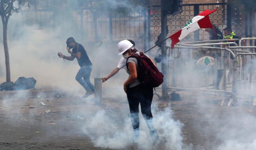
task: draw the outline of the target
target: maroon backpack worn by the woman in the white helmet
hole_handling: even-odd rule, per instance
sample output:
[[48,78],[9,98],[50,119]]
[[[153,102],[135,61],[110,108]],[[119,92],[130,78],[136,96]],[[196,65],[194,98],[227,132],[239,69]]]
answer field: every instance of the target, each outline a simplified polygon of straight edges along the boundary
[[[141,81],[144,85],[151,87],[159,87],[160,84],[164,82],[163,74],[157,69],[153,64],[150,58],[144,55],[143,52],[140,52],[139,55],[133,54],[128,58],[137,58],[138,60],[138,80]],[[126,67],[128,69],[128,58],[126,60]]]

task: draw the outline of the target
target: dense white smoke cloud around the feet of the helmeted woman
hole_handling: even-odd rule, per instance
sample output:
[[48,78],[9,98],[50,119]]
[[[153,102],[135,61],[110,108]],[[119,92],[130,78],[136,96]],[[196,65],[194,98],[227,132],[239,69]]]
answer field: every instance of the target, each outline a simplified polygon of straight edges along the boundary
[[[128,110],[126,113],[129,113]],[[156,147],[162,147],[166,150],[170,148],[183,149],[183,138],[181,136],[183,124],[173,120],[170,108],[153,113],[154,127],[159,135],[158,145],[153,144],[142,115],[140,115],[140,137],[138,141],[133,141],[134,133],[128,115],[123,115],[121,120],[115,119],[111,118],[106,111],[98,111],[96,115],[88,118],[91,123],[85,124],[83,131],[97,147],[121,149],[133,145],[133,142],[135,142],[138,143],[139,148],[144,150],[151,150]],[[160,143],[163,145],[160,145]]]

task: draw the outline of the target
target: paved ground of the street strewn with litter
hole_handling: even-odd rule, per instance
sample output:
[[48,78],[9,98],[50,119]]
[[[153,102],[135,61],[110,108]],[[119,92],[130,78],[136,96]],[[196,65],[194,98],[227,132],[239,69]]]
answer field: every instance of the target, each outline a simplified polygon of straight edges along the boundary
[[[220,107],[220,99],[211,96],[181,93],[181,97],[182,101],[172,104],[154,98],[156,107],[153,109],[156,113],[171,107],[174,120],[183,123],[181,136],[185,148],[214,150],[227,139],[237,139],[238,135],[245,139],[248,136],[244,134],[250,134],[255,126],[256,109],[250,102]],[[40,102],[47,105],[39,105]],[[45,113],[47,110],[51,113]],[[91,98],[78,97],[0,99],[0,149],[107,150],[95,146],[82,128],[92,124],[93,120],[88,116],[101,110],[120,122],[120,126],[124,123],[123,118],[129,115],[128,103],[123,98],[105,98],[102,106],[94,105]],[[236,132],[238,134],[234,134]],[[164,135],[160,131],[159,134]],[[255,134],[251,133],[251,136]],[[130,144],[122,149],[141,148]],[[158,144],[149,149],[173,147]]]

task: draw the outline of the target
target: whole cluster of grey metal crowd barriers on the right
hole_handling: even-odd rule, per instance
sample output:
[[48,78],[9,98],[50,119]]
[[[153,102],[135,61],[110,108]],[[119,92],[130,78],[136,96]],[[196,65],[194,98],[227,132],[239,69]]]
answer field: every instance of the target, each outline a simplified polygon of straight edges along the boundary
[[228,106],[241,99],[253,101],[256,96],[256,46],[237,46],[228,39],[177,45],[172,50],[169,47],[169,91],[214,94],[222,98],[222,106],[226,99]]

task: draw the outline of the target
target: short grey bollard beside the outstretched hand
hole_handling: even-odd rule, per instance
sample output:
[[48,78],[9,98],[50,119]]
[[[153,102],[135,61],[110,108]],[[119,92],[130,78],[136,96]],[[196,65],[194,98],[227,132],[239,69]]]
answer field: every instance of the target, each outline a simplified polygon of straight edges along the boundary
[[102,105],[102,81],[101,78],[94,78],[94,99],[96,105]]

